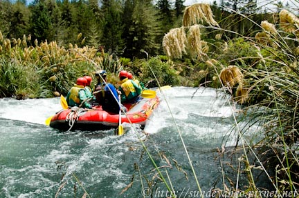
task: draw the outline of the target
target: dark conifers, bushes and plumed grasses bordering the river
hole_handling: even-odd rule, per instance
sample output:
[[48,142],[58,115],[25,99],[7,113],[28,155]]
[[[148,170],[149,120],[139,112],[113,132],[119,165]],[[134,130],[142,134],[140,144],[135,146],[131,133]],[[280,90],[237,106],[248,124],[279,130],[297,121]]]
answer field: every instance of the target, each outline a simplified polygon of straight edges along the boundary
[[[0,97],[66,95],[77,77],[100,69],[116,86],[125,69],[147,88],[220,88],[263,126],[264,139],[252,147],[271,148],[277,157],[272,182],[293,192],[299,177],[296,12],[282,1],[272,12],[255,0],[183,4],[0,1]],[[240,139],[246,128],[238,128]],[[244,161],[248,188],[257,190],[256,167]]]

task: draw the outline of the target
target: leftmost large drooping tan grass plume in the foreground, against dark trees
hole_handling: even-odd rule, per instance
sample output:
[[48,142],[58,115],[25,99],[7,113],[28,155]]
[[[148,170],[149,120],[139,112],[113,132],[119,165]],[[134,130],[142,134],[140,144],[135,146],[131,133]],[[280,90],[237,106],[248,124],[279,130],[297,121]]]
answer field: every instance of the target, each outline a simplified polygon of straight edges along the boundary
[[171,29],[163,37],[163,50],[167,57],[181,58],[185,51],[186,35],[183,27]]

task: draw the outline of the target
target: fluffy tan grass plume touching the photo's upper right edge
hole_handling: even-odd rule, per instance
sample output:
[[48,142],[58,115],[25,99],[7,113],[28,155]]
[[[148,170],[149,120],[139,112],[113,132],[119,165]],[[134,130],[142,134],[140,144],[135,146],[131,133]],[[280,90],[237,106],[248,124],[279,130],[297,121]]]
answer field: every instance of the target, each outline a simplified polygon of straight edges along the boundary
[[280,11],[280,27],[286,32],[298,32],[299,19],[288,10]]

